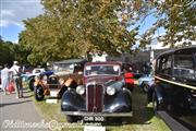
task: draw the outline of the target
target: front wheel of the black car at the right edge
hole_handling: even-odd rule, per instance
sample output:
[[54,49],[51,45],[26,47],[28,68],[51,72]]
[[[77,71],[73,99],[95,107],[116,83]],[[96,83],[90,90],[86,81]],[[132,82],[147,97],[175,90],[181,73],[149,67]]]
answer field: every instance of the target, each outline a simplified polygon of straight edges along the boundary
[[157,114],[157,111],[159,110],[163,110],[163,104],[160,104],[157,97],[157,94],[154,93],[152,94],[152,108],[154,108],[154,112]]

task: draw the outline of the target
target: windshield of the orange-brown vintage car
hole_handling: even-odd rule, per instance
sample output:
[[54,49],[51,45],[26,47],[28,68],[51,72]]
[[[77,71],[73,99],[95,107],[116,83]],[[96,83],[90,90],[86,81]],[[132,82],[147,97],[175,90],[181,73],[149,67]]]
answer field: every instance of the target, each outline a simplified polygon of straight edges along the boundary
[[60,72],[60,71],[73,72],[74,63],[54,63],[53,70],[54,72]]

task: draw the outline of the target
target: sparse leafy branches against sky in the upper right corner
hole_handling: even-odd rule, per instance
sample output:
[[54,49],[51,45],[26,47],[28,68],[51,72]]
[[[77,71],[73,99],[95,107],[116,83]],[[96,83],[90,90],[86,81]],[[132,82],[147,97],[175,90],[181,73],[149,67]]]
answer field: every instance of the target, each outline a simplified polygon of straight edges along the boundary
[[176,43],[184,41],[189,46],[196,40],[196,2],[194,0],[147,0],[148,14],[157,17],[154,26],[145,33],[147,37],[163,27],[166,35],[159,37],[163,45],[175,47]]

